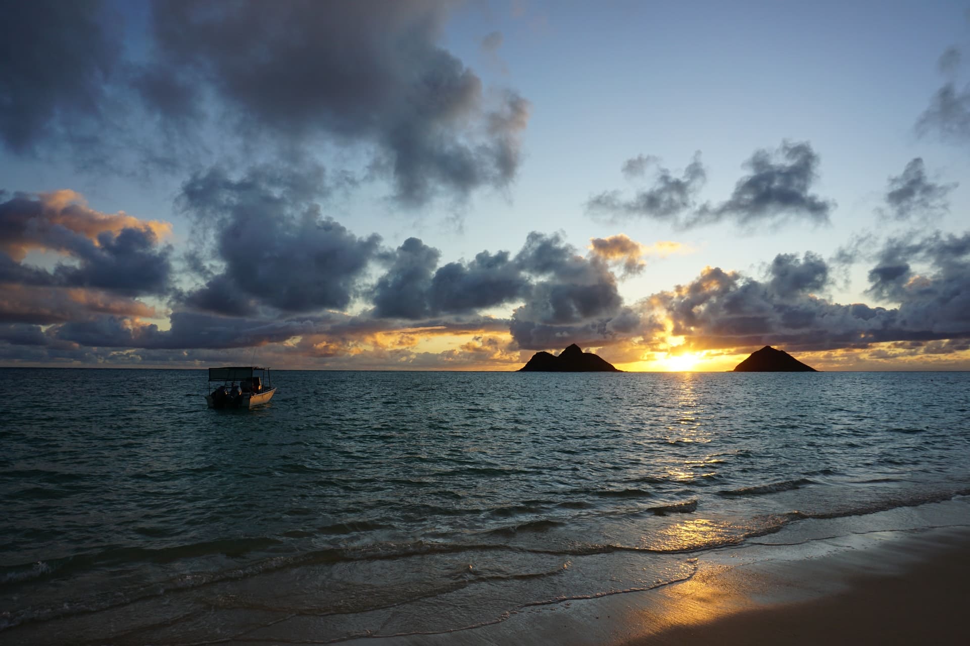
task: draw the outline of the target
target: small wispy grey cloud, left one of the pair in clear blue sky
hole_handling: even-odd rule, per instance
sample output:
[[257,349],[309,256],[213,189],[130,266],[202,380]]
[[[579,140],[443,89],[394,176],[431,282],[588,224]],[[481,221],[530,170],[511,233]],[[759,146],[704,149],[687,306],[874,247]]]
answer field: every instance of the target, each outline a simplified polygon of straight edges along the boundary
[[[656,158],[640,155],[627,160],[623,172],[630,177],[642,175],[655,163]],[[617,217],[646,217],[678,223],[681,214],[695,207],[697,192],[706,179],[707,173],[698,152],[681,177],[674,177],[668,169],[658,167],[654,185],[637,191],[630,200],[624,200],[619,191],[606,191],[588,200],[586,208]]]

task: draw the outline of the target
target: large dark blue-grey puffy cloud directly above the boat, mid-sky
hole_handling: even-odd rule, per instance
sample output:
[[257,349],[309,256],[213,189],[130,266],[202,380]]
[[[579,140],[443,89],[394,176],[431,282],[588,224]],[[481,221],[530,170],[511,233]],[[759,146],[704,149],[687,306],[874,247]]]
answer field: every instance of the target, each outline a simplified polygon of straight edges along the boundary
[[323,217],[308,200],[311,186],[269,168],[238,180],[210,169],[187,181],[179,201],[210,229],[225,267],[184,302],[232,315],[256,303],[286,312],[345,307],[380,238],[357,237]]

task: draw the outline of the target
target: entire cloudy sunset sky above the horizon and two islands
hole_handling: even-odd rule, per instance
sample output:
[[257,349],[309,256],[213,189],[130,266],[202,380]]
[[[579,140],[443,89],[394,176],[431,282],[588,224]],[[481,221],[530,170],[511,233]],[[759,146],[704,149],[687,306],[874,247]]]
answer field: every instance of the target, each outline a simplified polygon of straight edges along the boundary
[[966,1],[0,15],[0,365],[970,370]]

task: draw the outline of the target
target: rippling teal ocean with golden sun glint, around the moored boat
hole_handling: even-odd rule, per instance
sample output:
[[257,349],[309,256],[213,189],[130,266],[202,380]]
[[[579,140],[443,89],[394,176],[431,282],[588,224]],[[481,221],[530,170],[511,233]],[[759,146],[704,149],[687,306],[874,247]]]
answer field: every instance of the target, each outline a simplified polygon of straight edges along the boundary
[[4,644],[465,631],[970,518],[970,373],[0,373]]

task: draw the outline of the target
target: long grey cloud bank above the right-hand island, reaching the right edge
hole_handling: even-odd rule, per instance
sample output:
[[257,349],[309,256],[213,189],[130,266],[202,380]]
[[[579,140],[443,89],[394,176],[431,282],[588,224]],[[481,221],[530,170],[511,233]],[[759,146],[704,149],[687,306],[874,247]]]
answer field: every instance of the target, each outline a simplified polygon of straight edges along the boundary
[[[910,262],[917,261],[927,270],[915,270]],[[827,276],[814,254],[780,255],[763,281],[708,267],[652,301],[671,334],[695,348],[821,351],[970,337],[970,234],[889,241],[869,277],[872,292],[898,302],[895,308],[830,302],[818,294]]]

